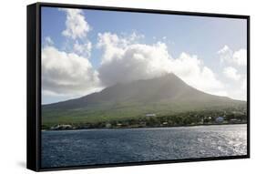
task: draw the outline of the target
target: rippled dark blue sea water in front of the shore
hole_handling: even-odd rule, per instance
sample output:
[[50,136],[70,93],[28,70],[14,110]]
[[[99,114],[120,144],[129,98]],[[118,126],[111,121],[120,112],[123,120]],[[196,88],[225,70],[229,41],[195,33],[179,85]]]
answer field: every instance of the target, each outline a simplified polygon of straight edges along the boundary
[[247,125],[42,131],[41,167],[247,154]]

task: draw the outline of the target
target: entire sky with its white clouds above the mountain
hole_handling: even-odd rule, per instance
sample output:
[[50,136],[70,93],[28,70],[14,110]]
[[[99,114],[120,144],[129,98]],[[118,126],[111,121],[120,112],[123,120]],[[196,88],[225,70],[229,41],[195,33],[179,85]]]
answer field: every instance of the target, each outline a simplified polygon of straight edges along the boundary
[[245,19],[42,7],[42,104],[174,73],[246,100]]

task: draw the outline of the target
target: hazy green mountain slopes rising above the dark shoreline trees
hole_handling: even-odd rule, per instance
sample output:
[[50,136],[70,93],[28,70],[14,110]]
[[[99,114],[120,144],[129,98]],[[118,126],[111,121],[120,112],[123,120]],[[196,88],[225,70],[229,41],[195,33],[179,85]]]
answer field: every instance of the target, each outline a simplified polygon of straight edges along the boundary
[[87,123],[173,115],[205,109],[246,106],[246,102],[204,93],[174,74],[106,87],[100,92],[42,106],[45,125]]

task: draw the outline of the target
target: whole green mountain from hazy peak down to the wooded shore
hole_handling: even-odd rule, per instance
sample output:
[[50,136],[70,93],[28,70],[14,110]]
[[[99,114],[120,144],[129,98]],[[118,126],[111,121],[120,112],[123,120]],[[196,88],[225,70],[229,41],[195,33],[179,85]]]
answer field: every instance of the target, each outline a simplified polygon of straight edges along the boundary
[[[145,128],[246,122],[246,101],[189,87],[173,74],[42,106],[42,128]],[[147,115],[151,114],[151,117]],[[153,117],[152,117],[153,116]],[[62,125],[62,126],[61,126]]]

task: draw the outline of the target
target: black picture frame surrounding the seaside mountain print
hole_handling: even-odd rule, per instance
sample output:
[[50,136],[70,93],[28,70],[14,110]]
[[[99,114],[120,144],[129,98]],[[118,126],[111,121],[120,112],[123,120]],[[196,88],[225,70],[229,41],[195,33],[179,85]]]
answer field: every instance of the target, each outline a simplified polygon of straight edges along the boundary
[[[195,15],[209,17],[240,18],[247,20],[247,155],[212,157],[201,159],[171,159],[147,162],[130,162],[107,165],[88,165],[88,166],[68,166],[57,168],[41,168],[41,7],[68,7],[95,9],[105,11],[125,11],[149,14],[168,14],[168,15]],[[139,9],[125,7],[95,6],[95,5],[67,5],[36,3],[27,5],[27,132],[26,132],[26,168],[35,171],[48,171],[60,169],[91,169],[105,167],[121,167],[134,165],[148,165],[161,163],[177,163],[191,161],[207,161],[220,159],[247,159],[250,158],[250,15],[227,15],[211,14],[198,12],[181,12],[156,9]]]

